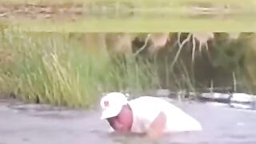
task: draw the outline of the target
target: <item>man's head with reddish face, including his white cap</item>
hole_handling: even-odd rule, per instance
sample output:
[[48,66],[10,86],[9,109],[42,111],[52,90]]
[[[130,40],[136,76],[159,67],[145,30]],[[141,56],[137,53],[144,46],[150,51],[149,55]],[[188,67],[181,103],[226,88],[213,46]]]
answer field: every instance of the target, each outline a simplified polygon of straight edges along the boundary
[[112,92],[101,99],[102,116],[114,130],[127,132],[133,123],[133,114],[125,94]]

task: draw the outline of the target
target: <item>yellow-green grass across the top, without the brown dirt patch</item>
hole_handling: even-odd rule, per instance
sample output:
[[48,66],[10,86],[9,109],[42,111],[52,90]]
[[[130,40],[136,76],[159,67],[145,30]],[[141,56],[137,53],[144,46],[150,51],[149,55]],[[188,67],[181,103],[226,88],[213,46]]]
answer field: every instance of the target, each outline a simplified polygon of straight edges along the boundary
[[[256,31],[256,2],[254,0],[1,0],[0,3],[54,3],[71,4],[82,3],[84,9],[92,12],[90,16],[78,18],[74,21],[67,20],[38,20],[29,18],[10,18],[2,22],[7,25],[20,26],[22,30],[43,32],[163,32],[163,31]],[[110,14],[102,12],[103,6],[110,6],[107,2],[126,2],[131,5],[129,10],[123,11],[123,7],[111,6]],[[88,6],[90,3],[90,6]],[[206,4],[205,4],[206,3]],[[130,6],[129,5],[129,6]],[[230,14],[200,15],[194,14],[189,6],[230,6]],[[100,15],[94,15],[94,10],[99,10]],[[96,11],[97,11],[96,10]],[[133,12],[133,15],[130,15]],[[115,14],[121,14],[115,18]],[[125,13],[126,15],[122,15]]]

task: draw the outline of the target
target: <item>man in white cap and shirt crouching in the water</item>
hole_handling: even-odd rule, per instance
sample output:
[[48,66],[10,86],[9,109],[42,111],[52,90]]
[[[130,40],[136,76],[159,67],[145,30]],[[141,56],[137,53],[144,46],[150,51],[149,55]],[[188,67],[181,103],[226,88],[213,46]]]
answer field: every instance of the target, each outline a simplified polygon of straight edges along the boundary
[[142,96],[128,101],[125,94],[112,92],[101,99],[102,116],[120,133],[162,134],[202,130],[190,115],[161,98]]

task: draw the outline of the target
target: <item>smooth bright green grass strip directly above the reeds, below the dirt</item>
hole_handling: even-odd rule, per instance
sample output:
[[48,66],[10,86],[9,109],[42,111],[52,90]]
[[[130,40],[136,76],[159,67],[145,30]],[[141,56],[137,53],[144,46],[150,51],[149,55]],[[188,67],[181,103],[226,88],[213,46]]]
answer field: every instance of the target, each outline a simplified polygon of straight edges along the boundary
[[19,20],[8,23],[22,30],[34,32],[166,32],[214,31],[253,32],[256,20],[249,16],[240,18],[88,18],[75,22]]

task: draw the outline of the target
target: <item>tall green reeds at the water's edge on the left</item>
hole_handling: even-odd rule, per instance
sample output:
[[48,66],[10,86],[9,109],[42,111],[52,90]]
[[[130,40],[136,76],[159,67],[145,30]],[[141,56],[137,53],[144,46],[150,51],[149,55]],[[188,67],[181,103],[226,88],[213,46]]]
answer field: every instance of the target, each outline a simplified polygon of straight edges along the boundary
[[68,34],[4,29],[0,41],[2,53],[10,53],[1,63],[0,90],[28,102],[90,107],[106,91],[158,86],[150,64],[131,56],[114,63]]

